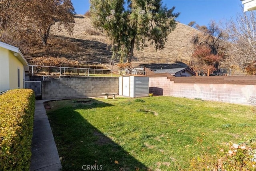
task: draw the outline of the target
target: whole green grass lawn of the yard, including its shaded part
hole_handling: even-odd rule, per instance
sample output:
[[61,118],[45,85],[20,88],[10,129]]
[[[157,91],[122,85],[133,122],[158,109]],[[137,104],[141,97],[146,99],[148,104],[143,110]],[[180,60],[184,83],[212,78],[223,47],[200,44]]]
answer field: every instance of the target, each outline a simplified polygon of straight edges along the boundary
[[246,105],[165,96],[49,103],[63,171],[186,170],[194,157],[255,135]]

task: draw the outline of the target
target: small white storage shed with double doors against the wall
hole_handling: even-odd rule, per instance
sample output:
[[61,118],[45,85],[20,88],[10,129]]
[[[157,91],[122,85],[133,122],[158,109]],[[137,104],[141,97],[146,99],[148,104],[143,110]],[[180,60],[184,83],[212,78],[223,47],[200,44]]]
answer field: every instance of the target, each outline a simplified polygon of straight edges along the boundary
[[123,75],[119,77],[119,95],[127,97],[148,97],[149,77]]

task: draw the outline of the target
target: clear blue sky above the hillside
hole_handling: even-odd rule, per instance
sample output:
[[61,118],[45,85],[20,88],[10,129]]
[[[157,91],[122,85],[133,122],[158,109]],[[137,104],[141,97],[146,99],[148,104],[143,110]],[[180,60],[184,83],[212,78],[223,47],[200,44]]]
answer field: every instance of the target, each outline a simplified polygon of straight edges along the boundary
[[[90,8],[89,0],[71,0],[77,14],[84,14]],[[162,0],[168,8],[175,6],[174,12],[180,12],[177,21],[188,24],[195,21],[200,26],[208,26],[211,20],[216,22],[235,18],[241,12],[241,0]]]

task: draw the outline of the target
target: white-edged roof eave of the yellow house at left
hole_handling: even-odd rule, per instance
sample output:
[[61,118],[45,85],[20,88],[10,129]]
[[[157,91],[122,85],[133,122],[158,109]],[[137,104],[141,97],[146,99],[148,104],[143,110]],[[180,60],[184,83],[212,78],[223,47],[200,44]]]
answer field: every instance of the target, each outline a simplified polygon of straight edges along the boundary
[[27,62],[27,60],[25,59],[25,57],[23,56],[23,54],[22,54],[22,52],[20,51],[19,48],[15,47],[15,46],[12,46],[12,45],[10,45],[10,44],[6,44],[6,43],[1,42],[1,41],[0,41],[0,47],[12,51],[13,54],[14,54],[14,56],[15,56],[16,58],[18,58],[18,60],[23,64],[24,70],[25,70],[26,72],[29,72],[28,62]]

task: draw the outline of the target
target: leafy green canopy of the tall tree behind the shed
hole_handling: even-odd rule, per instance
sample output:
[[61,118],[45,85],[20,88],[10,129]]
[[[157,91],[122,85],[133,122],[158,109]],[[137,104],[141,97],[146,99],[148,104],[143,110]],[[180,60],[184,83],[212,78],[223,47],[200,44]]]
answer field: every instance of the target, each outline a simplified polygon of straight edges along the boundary
[[[90,14],[96,28],[112,41],[112,58],[131,62],[134,46],[142,50],[146,41],[163,49],[180,13],[167,9],[162,0],[90,0]],[[127,4],[127,6],[126,6]]]

